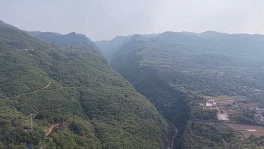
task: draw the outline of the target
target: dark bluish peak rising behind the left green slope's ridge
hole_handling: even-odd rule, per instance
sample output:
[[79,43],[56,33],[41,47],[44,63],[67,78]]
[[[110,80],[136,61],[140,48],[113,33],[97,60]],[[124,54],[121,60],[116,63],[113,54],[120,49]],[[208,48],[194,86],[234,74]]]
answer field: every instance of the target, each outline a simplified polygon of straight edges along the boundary
[[74,48],[95,50],[100,52],[96,44],[93,43],[84,34],[76,34],[75,32],[71,32],[69,34],[62,35],[56,32],[40,32],[40,31],[28,31],[27,33],[39,39],[42,39],[50,44],[52,43],[61,47],[74,47]]

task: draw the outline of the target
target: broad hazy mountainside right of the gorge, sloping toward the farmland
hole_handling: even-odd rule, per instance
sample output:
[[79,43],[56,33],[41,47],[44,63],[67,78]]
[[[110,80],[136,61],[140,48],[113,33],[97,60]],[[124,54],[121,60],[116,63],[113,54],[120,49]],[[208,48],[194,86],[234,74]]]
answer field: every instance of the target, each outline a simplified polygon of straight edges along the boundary
[[[169,31],[133,35],[104,50],[112,54],[110,65],[176,126],[176,149],[257,149],[253,142],[264,141],[242,136],[219,116],[227,111],[234,124],[264,125],[240,106],[263,108],[264,95],[252,90],[264,90],[264,35]],[[232,102],[206,106],[208,98],[223,97]]]

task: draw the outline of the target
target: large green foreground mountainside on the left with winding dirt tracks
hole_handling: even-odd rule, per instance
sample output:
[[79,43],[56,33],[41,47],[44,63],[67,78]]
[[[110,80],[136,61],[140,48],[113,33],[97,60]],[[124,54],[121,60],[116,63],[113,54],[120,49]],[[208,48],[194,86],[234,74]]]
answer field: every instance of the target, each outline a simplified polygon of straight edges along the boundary
[[167,149],[154,105],[96,50],[70,47],[0,23],[0,148]]

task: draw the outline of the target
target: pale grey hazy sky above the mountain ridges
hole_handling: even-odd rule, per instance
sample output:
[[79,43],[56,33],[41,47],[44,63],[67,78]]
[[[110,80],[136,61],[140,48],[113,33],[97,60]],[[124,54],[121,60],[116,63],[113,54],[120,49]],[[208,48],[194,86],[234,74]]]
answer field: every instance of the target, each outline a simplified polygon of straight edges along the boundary
[[264,0],[0,0],[0,20],[94,41],[164,31],[264,34]]

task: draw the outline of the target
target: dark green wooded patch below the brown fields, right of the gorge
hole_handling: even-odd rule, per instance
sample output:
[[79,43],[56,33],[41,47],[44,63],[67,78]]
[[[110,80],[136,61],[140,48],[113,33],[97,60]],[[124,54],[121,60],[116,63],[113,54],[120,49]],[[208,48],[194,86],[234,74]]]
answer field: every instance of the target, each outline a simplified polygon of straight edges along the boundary
[[243,149],[242,136],[221,123],[189,122],[183,135],[184,149]]

